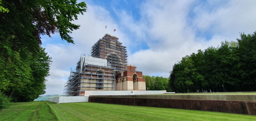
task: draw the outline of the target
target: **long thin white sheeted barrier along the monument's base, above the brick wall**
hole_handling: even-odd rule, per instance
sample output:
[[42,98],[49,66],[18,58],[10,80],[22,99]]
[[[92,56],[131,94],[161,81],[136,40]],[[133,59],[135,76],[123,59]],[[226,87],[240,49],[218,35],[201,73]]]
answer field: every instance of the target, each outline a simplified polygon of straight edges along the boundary
[[164,94],[166,90],[160,91],[85,91],[86,96],[89,95],[152,95]]

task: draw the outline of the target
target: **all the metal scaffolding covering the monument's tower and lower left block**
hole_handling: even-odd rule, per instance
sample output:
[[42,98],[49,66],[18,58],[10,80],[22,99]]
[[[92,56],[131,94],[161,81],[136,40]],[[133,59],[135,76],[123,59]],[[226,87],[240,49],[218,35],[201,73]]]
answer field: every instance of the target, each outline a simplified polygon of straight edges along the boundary
[[82,96],[86,90],[116,90],[117,72],[127,70],[126,46],[119,38],[105,34],[91,47],[91,57],[81,55],[70,70],[63,95]]

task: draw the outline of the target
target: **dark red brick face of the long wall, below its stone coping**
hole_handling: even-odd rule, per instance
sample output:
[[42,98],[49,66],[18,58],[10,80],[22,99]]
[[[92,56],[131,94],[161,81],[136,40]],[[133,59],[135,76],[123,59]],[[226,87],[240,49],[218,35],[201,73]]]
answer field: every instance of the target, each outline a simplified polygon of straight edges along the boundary
[[89,102],[256,115],[256,102],[252,101],[116,98],[89,96]]

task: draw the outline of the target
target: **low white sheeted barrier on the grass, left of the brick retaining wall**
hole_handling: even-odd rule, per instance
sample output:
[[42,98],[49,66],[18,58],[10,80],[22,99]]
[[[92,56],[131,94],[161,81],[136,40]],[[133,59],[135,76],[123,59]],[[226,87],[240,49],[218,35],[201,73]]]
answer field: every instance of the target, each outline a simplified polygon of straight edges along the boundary
[[47,101],[55,103],[69,103],[69,102],[88,102],[88,96],[60,96],[49,98]]

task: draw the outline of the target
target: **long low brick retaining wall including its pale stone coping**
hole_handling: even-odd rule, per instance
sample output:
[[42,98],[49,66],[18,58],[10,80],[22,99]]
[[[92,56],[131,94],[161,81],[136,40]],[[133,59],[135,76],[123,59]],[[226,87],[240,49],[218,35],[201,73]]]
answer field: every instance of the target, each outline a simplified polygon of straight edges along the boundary
[[98,95],[89,102],[256,115],[256,95]]

